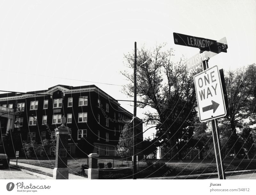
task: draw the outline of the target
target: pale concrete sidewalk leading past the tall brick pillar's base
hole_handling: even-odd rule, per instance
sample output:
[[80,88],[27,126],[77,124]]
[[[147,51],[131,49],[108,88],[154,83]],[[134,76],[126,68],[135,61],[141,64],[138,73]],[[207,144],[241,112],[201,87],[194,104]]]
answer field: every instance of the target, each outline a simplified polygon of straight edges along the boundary
[[[16,165],[16,162],[10,161],[10,165]],[[39,167],[39,166],[36,166],[36,165],[27,164],[27,163],[19,163],[18,162],[18,166],[40,170],[40,171],[45,173],[45,175],[39,174],[44,179],[50,179],[50,177],[47,176],[47,175],[49,175],[49,174],[52,175],[52,173],[53,173],[53,169],[45,168],[45,167]],[[33,171],[31,170],[30,173],[33,173]],[[33,173],[33,174],[37,175],[38,173]],[[69,173],[68,174],[68,179],[87,179],[87,178]]]

